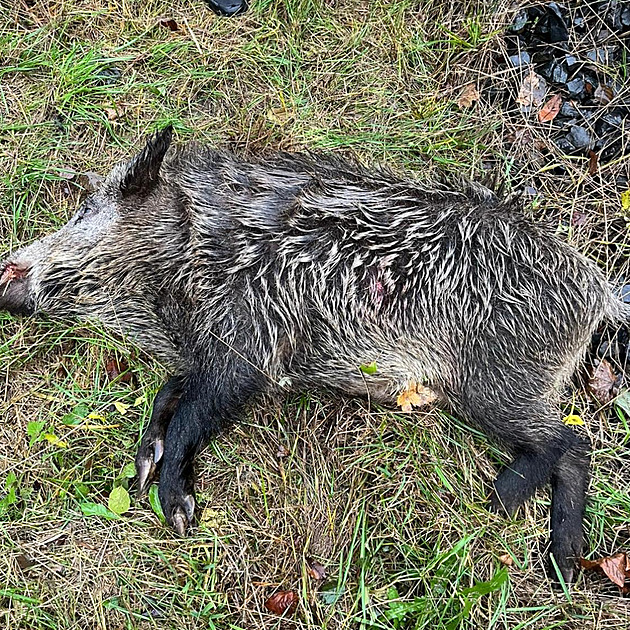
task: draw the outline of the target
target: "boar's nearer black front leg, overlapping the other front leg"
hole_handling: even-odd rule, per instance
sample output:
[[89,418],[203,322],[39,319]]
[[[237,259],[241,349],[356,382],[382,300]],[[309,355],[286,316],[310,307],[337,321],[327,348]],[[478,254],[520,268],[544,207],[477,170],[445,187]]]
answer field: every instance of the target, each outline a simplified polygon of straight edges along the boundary
[[251,366],[226,363],[188,377],[166,432],[159,497],[166,521],[182,536],[195,510],[195,455],[240,416],[252,395],[263,387]]

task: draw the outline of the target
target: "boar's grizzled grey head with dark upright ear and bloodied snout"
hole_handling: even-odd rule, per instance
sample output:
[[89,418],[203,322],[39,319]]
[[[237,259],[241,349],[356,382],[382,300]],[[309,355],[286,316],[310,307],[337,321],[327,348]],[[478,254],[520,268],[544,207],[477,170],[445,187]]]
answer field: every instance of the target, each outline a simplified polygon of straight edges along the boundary
[[[170,126],[151,136],[132,160],[114,167],[66,225],[0,264],[0,309],[98,320],[168,357],[172,341],[163,337],[172,335],[155,321],[157,284],[166,292],[166,283],[156,280],[155,270],[168,275],[169,267],[155,259],[172,260],[168,226],[178,229],[177,209],[164,199],[160,179],[171,137]],[[166,211],[170,221],[162,216]],[[167,227],[156,230],[156,221]],[[157,336],[156,344],[142,344],[144,329]]]

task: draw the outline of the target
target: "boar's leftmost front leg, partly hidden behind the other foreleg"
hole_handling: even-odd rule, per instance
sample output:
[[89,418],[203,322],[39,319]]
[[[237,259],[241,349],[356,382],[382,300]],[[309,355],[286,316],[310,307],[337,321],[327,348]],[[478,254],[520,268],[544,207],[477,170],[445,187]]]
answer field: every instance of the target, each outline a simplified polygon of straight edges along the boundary
[[142,440],[140,440],[140,446],[136,454],[138,495],[140,496],[144,494],[147,486],[153,480],[155,471],[164,454],[166,430],[177,409],[183,386],[184,379],[179,376],[173,376],[165,383],[153,401],[151,420],[142,436]]

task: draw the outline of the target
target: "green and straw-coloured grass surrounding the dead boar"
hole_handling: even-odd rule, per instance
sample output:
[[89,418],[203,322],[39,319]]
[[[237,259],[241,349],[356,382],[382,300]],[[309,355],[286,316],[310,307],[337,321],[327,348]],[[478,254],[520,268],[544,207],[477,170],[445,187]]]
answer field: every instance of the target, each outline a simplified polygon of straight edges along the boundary
[[[522,78],[501,66],[515,11],[474,0],[260,0],[227,20],[192,0],[0,5],[3,245],[67,220],[83,194],[70,173],[106,173],[172,122],[180,140],[243,153],[325,149],[420,177],[491,172],[508,189],[533,186],[535,213],[619,278],[628,238],[615,182],[627,157],[588,176],[587,159],[560,154],[543,125],[498,104],[493,94],[514,95]],[[160,24],[168,18],[178,30]],[[482,100],[461,109],[470,82]],[[509,141],[517,131],[536,142]],[[107,378],[111,357],[128,364],[131,383]],[[490,514],[490,483],[509,458],[455,418],[316,393],[267,401],[199,458],[199,524],[182,540],[146,500],[118,519],[86,514],[129,485],[165,378],[158,364],[91,326],[2,316],[0,375],[5,627],[630,623],[628,600],[597,575],[580,575],[570,593],[551,588],[547,494],[513,521]],[[627,550],[629,420],[572,396],[567,412],[586,420],[578,430],[594,448],[588,549]],[[326,567],[322,582],[308,575],[311,559]],[[296,615],[269,613],[266,599],[290,589]]]

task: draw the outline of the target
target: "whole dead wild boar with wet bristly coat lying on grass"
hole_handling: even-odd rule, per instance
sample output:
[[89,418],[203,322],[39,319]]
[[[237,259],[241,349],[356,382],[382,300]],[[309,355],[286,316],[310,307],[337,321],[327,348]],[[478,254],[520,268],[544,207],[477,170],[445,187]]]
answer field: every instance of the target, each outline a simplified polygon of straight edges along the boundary
[[600,323],[627,318],[599,269],[479,186],[169,150],[171,135],[0,267],[0,308],[98,320],[172,370],[136,457],[140,491],[161,465],[168,523],[185,533],[196,453],[256,394],[387,403],[422,383],[514,453],[493,509],[551,483],[551,553],[571,581],[589,445],[562,423],[558,391]]

